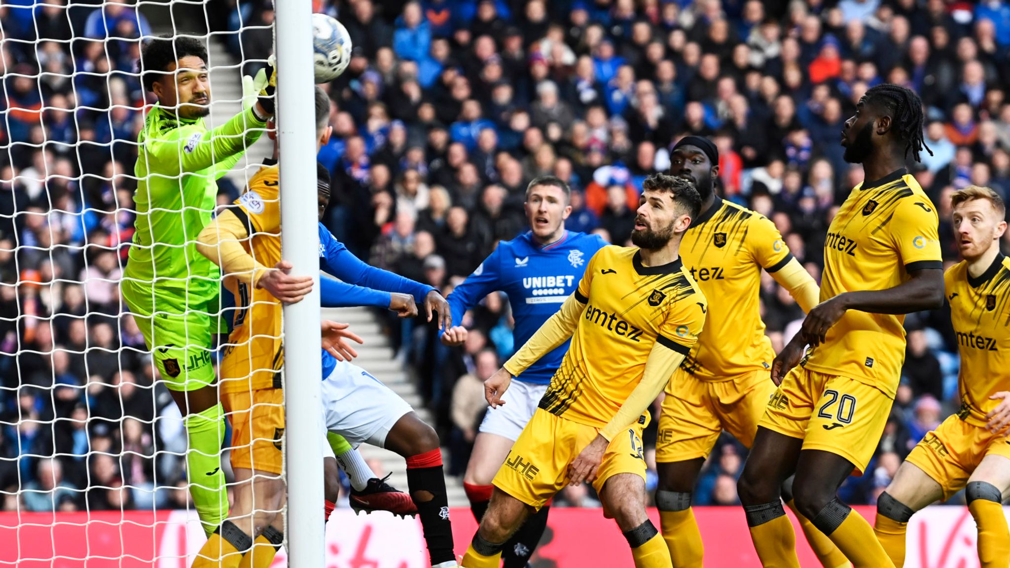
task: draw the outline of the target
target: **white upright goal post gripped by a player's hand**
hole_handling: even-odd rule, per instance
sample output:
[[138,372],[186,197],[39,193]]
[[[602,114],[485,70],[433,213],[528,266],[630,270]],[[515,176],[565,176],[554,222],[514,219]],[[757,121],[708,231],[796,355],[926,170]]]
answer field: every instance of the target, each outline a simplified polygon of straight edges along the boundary
[[312,292],[284,307],[289,566],[324,566],[323,433],[319,336],[319,231],[316,228],[312,1],[277,2],[278,139],[281,145],[282,257],[311,275]]

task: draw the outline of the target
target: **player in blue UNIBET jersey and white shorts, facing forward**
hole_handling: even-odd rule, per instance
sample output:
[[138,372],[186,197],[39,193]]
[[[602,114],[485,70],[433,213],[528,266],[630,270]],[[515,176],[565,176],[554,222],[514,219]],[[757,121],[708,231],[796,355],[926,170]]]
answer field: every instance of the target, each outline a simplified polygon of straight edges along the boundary
[[[499,243],[495,252],[448,295],[452,326],[442,334],[444,345],[459,346],[466,341],[467,328],[460,324],[464,312],[491,292],[500,290],[508,295],[517,347],[525,345],[572,295],[589,259],[607,243],[596,234],[565,229],[565,219],[572,212],[570,193],[568,184],[553,176],[529,182],[524,208],[531,229],[512,241]],[[533,416],[568,347],[565,342],[540,358],[515,378],[505,392],[503,406],[488,408],[463,478],[478,522],[488,508],[491,480]],[[546,528],[548,508],[543,506],[531,516],[505,546],[505,568],[526,566]]]

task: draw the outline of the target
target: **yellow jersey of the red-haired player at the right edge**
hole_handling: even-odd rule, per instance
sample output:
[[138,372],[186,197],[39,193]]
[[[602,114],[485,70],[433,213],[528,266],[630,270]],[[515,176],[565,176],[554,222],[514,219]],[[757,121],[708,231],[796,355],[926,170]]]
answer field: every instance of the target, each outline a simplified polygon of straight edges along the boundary
[[962,261],[946,271],[943,284],[961,355],[957,415],[984,427],[1000,402],[989,397],[1010,390],[1010,259],[996,257],[978,278],[969,276]]

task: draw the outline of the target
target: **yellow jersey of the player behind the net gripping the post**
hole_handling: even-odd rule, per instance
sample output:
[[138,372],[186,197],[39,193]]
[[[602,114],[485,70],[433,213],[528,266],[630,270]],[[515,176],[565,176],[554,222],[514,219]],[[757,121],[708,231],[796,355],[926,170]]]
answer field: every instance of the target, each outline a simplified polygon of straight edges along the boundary
[[[228,207],[249,234],[242,247],[268,267],[281,260],[279,176],[277,166],[261,169],[249,180],[248,190]],[[221,391],[280,387],[275,378],[284,366],[281,302],[234,277],[225,277],[224,286],[235,296],[235,314],[219,371]]]

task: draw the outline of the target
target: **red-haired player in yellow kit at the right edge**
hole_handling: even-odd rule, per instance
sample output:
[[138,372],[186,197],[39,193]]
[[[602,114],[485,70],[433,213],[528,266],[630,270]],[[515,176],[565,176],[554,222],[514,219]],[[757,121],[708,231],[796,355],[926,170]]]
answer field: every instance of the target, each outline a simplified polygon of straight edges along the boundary
[[1000,254],[1006,208],[988,187],[950,197],[954,238],[965,259],[943,275],[957,338],[961,410],[926,435],[877,501],[877,538],[895,566],[905,564],[912,513],[966,489],[979,526],[984,568],[1010,566],[1001,502],[1010,492],[1010,259]]

